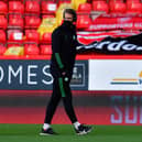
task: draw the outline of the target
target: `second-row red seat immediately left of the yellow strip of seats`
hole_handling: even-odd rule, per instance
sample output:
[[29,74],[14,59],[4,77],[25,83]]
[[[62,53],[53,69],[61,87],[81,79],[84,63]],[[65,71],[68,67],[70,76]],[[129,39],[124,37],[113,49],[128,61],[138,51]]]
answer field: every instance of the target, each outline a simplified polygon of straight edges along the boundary
[[25,29],[37,29],[41,24],[39,17],[25,17]]

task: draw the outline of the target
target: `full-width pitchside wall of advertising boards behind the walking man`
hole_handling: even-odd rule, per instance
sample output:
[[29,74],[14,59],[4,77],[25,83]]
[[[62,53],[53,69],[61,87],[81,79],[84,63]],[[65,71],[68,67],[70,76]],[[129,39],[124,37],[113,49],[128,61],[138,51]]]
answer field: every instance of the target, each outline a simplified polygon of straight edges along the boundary
[[[1,123],[43,123],[52,90],[48,65],[45,58],[0,59]],[[77,58],[72,89],[80,122],[142,125],[140,56]],[[70,123],[62,102],[53,123]]]

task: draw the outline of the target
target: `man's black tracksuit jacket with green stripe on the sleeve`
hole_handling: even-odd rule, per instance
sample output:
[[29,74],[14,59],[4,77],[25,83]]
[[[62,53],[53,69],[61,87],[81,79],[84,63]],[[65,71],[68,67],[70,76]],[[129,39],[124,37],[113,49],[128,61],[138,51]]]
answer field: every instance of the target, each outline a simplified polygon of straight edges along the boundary
[[61,77],[62,70],[66,70],[72,77],[75,64],[77,41],[76,26],[65,21],[54,30],[52,34],[51,73],[54,77]]

